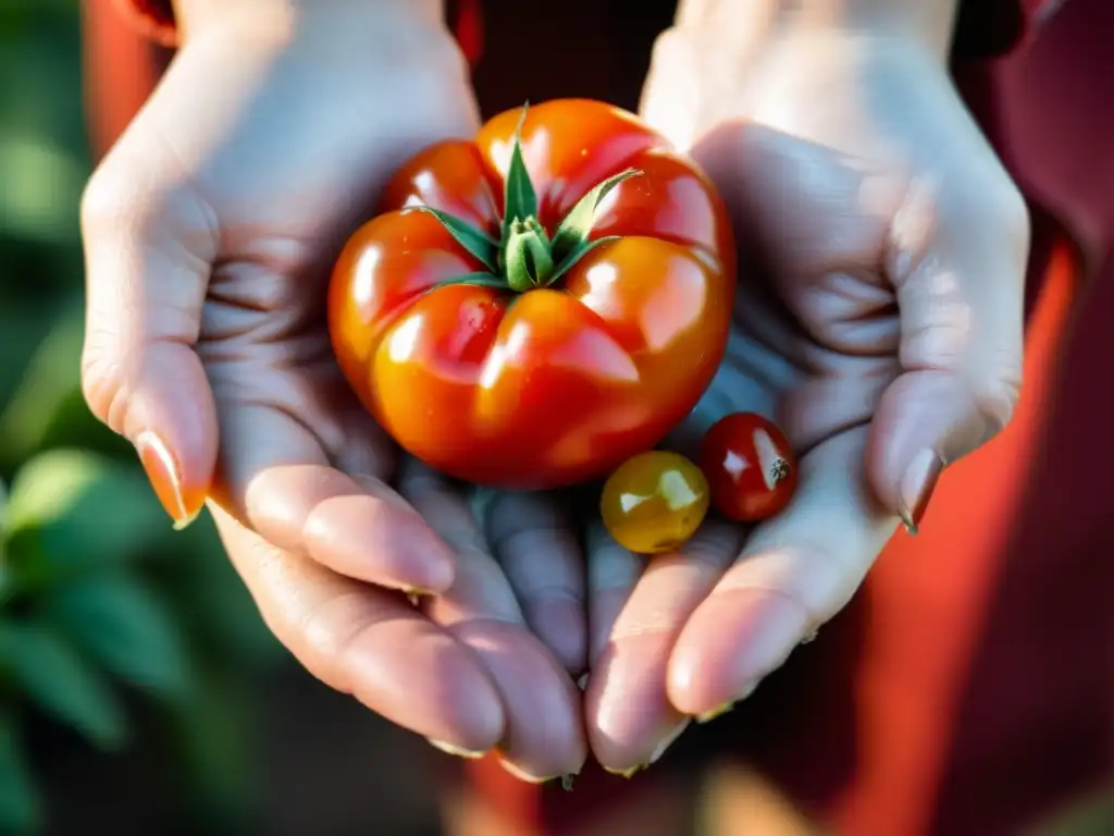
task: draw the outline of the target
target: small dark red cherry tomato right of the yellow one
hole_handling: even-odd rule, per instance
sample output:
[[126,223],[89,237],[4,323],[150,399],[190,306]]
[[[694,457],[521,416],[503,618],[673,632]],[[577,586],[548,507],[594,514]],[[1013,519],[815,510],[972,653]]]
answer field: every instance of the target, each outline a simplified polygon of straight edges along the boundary
[[730,519],[768,519],[797,492],[797,457],[789,439],[755,412],[734,412],[716,421],[701,443],[700,464],[712,504]]

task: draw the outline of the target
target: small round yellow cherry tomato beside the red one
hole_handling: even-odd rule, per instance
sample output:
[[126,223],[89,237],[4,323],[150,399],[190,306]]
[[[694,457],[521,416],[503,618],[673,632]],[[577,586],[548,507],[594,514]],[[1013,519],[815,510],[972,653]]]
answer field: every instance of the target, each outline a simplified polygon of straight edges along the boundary
[[676,453],[649,450],[627,459],[604,485],[599,511],[615,541],[639,554],[671,552],[707,514],[704,474]]

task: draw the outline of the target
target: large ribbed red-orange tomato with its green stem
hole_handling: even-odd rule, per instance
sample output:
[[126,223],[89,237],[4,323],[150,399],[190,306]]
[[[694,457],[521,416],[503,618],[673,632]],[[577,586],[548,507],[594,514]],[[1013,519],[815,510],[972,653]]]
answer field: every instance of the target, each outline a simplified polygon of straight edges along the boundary
[[567,99],[433,145],[333,273],[333,348],[364,406],[433,468],[544,488],[658,443],[723,356],[723,204],[636,117]]

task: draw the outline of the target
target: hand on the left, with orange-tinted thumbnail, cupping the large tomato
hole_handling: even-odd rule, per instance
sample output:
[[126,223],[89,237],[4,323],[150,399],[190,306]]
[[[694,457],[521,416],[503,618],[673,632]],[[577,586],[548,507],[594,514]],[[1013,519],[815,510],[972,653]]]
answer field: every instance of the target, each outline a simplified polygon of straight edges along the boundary
[[[331,261],[387,177],[476,127],[439,4],[178,7],[184,48],[82,206],[92,410],[176,523],[211,496],[264,619],[312,673],[451,751],[498,743],[519,771],[576,771],[565,668],[583,664],[583,624],[556,631],[568,614],[537,592],[576,584],[571,539],[530,576],[516,555],[557,527],[548,506],[501,499],[489,550],[462,494],[413,463],[389,487],[392,446],[325,329]],[[439,594],[423,613],[413,590]],[[561,661],[527,622],[560,632]]]

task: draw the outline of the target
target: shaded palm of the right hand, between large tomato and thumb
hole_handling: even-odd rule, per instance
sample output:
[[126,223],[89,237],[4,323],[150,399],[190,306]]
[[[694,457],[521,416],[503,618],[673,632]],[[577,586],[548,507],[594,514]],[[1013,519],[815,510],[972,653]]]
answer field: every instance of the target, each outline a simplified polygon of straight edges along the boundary
[[871,176],[905,175],[768,127],[740,134],[729,125],[693,152],[732,189],[743,268],[723,364],[676,443],[691,449],[723,415],[758,411],[778,420],[805,467],[846,438],[840,466],[858,473],[861,430],[901,371],[901,323],[886,268],[892,208],[857,211],[848,198]]

